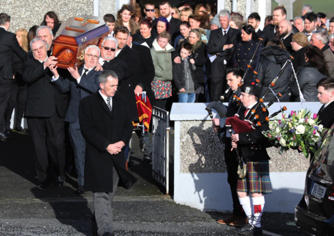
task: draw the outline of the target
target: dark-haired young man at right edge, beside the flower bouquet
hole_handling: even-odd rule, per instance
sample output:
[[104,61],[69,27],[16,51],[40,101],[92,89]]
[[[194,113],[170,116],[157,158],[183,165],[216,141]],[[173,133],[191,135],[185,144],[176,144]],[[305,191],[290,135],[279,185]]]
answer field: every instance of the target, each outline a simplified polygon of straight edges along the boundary
[[325,128],[330,128],[334,123],[334,78],[326,77],[317,83],[318,99],[321,106],[318,112],[318,120]]

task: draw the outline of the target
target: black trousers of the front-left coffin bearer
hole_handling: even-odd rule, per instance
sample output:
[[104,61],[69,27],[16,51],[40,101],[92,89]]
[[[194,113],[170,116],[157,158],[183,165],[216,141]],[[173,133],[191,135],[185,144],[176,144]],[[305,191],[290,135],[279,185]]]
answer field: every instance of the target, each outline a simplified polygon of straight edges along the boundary
[[41,183],[49,184],[51,164],[57,176],[65,174],[64,118],[54,108],[51,117],[28,117],[29,135],[32,139],[35,170]]

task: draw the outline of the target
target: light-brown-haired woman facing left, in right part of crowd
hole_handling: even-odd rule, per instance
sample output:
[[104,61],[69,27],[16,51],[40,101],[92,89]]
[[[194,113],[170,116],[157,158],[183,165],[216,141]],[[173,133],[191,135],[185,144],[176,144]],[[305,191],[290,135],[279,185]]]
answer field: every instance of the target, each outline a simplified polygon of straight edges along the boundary
[[291,46],[294,51],[291,56],[293,56],[292,65],[295,71],[305,65],[305,47],[309,46],[307,36],[304,33],[296,33],[292,35]]

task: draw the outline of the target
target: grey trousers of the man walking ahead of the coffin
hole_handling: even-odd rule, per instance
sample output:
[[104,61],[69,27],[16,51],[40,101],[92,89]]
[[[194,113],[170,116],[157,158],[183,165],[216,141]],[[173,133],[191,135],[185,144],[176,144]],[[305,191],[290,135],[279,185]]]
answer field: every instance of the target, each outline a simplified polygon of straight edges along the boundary
[[118,174],[113,168],[113,192],[93,192],[94,214],[98,226],[98,235],[114,232],[113,227],[113,199],[118,185]]

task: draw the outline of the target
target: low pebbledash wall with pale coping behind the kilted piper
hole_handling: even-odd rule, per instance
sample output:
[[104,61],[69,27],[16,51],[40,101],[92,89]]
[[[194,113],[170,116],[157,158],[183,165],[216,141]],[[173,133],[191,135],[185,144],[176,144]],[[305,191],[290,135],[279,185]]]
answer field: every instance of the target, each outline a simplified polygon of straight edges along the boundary
[[[281,103],[288,111],[307,108],[313,113],[320,102]],[[213,132],[205,103],[174,103],[170,119],[174,120],[174,201],[201,210],[232,210],[230,186],[224,161],[224,145]],[[280,109],[274,103],[268,109]],[[218,116],[216,115],[218,118]],[[279,154],[267,149],[271,160],[270,179],[273,193],[265,196],[266,211],[294,212],[303,197],[309,159],[297,151]]]

